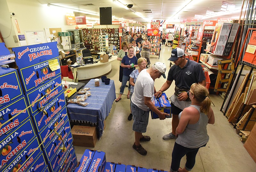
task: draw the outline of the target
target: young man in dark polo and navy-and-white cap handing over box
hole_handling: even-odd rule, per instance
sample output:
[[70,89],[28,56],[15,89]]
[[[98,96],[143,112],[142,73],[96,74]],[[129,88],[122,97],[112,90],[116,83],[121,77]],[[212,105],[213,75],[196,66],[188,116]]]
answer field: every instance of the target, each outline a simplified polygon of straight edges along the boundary
[[191,105],[191,100],[189,99],[190,86],[193,83],[206,85],[203,68],[199,63],[186,59],[183,49],[173,49],[171,57],[168,60],[173,61],[175,65],[169,70],[164,85],[155,93],[156,97],[161,96],[171,86],[172,81],[175,81],[175,93],[170,98],[172,107],[172,132],[164,135],[164,140],[177,138],[176,128],[179,124],[179,114],[184,108]]

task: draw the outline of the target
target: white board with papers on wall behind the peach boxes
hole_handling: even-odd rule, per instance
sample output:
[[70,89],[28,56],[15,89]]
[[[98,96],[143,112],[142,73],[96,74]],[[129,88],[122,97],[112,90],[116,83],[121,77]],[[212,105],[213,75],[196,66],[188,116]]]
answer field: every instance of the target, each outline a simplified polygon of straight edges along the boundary
[[46,43],[46,35],[43,30],[39,31],[25,31],[28,45]]

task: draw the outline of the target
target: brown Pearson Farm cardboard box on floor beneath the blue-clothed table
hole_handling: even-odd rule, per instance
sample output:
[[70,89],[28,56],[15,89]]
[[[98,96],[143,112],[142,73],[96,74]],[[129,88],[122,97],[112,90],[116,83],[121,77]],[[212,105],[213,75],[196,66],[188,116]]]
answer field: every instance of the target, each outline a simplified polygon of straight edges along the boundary
[[96,127],[74,125],[71,133],[74,146],[94,147],[96,144]]

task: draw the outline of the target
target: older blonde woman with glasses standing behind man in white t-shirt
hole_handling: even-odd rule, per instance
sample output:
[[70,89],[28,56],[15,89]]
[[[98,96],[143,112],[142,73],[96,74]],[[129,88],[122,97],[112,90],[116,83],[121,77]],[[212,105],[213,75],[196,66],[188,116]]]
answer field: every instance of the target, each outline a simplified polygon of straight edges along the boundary
[[[134,89],[136,79],[137,79],[140,71],[142,71],[143,69],[146,69],[147,59],[143,58],[143,57],[140,57],[138,59],[138,66],[139,66],[139,69],[136,69],[136,70],[132,71],[132,73],[130,74],[130,81],[129,81],[129,84],[131,85],[131,89],[130,89],[130,108],[131,108],[131,103],[132,103],[132,99],[131,99],[132,98],[132,93],[133,93],[133,89]],[[131,110],[130,115],[128,116],[128,120],[129,121],[132,120],[132,110]]]

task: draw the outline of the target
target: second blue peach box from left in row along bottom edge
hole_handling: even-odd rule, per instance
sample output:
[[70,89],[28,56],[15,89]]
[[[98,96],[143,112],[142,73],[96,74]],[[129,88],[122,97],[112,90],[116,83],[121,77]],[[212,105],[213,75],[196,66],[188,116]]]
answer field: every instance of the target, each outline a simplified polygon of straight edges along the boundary
[[90,168],[88,172],[103,172],[106,165],[106,153],[102,151],[96,151],[92,158]]

